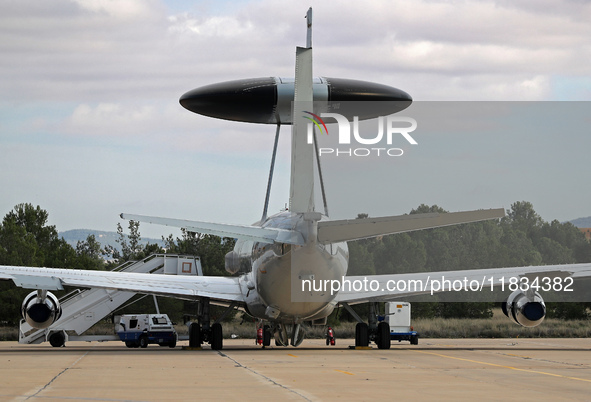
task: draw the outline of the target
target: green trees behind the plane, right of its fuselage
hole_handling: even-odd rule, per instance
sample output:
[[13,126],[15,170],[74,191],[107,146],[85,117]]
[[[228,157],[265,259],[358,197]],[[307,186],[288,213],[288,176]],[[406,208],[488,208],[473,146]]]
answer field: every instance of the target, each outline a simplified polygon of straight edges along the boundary
[[[420,205],[410,214],[443,208]],[[358,219],[366,218],[359,214]],[[349,275],[452,271],[591,262],[591,243],[571,223],[545,222],[530,202],[500,220],[419,230],[349,243]],[[486,318],[499,303],[413,304],[414,317]],[[548,316],[587,318],[589,303],[547,303]]]

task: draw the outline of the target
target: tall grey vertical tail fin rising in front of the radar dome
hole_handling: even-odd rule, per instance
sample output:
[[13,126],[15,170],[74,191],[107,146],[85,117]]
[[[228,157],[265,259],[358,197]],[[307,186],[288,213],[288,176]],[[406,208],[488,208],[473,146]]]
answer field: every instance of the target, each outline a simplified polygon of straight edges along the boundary
[[[311,30],[311,10],[308,11]],[[308,34],[311,42],[311,36]],[[311,43],[308,43],[311,45]],[[295,96],[292,107],[291,185],[289,207],[292,212],[314,211],[314,145],[308,144],[309,120],[313,110],[312,48],[296,48]]]

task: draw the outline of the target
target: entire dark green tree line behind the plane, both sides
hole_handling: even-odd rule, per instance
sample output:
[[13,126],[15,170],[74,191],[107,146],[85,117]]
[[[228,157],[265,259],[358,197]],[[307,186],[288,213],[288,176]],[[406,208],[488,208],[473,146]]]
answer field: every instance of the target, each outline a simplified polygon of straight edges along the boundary
[[[420,205],[410,214],[446,211],[437,205]],[[60,238],[55,226],[48,225],[49,214],[32,204],[19,204],[6,214],[0,225],[0,264],[53,268],[110,270],[129,260],[140,260],[154,253],[196,255],[205,275],[227,275],[224,256],[234,240],[183,231],[181,237],[169,235],[164,247],[140,244],[139,222],[130,221],[129,233],[117,225],[120,250],[103,247],[94,237],[79,241],[76,247]],[[358,218],[366,218],[359,214]],[[420,230],[349,242],[348,275],[376,275],[408,272],[483,269],[508,266],[571,264],[591,262],[591,243],[578,228],[556,220],[545,222],[529,202],[511,205],[505,218],[464,225]],[[30,292],[0,281],[0,324],[18,323],[24,296]],[[59,296],[59,295],[58,295]],[[161,310],[173,319],[193,306],[160,298]],[[494,303],[435,303],[413,305],[414,317],[489,317]],[[588,303],[554,303],[549,316],[586,318]],[[119,313],[151,312],[151,298]],[[363,312],[364,307],[359,307]],[[215,313],[214,313],[215,314]],[[338,321],[351,319],[339,311]]]

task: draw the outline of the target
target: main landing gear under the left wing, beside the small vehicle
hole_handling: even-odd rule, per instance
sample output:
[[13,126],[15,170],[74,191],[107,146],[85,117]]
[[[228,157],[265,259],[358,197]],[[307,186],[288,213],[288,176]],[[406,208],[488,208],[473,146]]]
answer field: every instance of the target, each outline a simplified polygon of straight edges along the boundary
[[197,307],[198,322],[189,325],[189,347],[198,348],[204,343],[209,343],[213,350],[222,350],[224,347],[224,334],[222,331],[222,321],[230,311],[235,307],[235,303],[230,304],[224,313],[211,324],[209,315],[209,298],[204,297],[199,300]]

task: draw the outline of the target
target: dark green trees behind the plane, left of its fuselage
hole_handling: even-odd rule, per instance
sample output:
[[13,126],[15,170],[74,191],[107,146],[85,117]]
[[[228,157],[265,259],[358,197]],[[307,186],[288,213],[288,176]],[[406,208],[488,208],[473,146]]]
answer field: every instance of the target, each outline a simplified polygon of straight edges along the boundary
[[[205,275],[226,275],[224,256],[234,247],[233,239],[187,231],[182,231],[180,238],[172,235],[163,238],[164,247],[155,243],[143,245],[140,224],[135,221],[129,222],[128,233],[117,224],[119,249],[103,247],[94,235],[72,247],[59,237],[55,226],[48,225],[48,218],[47,211],[28,203],[16,205],[8,212],[0,224],[0,265],[112,270],[126,261],[167,252],[199,256]],[[61,297],[70,290],[55,293]],[[16,287],[12,281],[0,281],[0,325],[18,324],[21,303],[30,292],[30,289]],[[155,313],[153,299],[139,300],[141,298],[138,295],[131,306],[117,314]],[[159,297],[158,304],[163,313],[177,321],[182,318],[183,311],[195,311],[191,303],[172,298]]]

